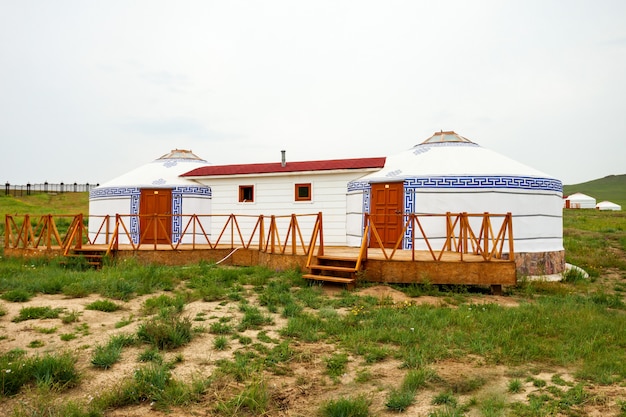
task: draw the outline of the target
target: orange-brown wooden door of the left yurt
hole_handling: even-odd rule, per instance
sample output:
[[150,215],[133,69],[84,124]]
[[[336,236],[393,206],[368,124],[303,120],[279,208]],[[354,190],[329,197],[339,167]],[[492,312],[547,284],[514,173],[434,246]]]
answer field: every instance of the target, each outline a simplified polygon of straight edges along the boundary
[[171,243],[172,190],[142,189],[139,199],[140,243]]

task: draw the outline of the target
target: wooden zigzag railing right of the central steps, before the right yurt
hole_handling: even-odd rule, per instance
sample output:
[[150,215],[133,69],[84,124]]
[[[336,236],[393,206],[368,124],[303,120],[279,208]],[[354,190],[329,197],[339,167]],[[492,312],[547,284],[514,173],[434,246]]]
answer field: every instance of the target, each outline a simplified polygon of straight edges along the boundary
[[[365,215],[365,230],[363,240],[361,242],[361,250],[359,260],[367,260],[368,248],[371,246],[371,240],[377,244],[376,246],[383,253],[385,259],[391,260],[398,250],[403,249],[405,237],[407,234],[410,243],[411,260],[415,260],[415,251],[417,243],[420,241],[426,250],[430,253],[435,261],[440,261],[444,253],[457,253],[459,259],[463,260],[464,254],[473,254],[482,256],[483,260],[502,259],[505,244],[508,249],[509,259],[514,259],[513,245],[513,216],[511,213],[506,214],[469,214],[469,213],[446,213],[446,214],[397,214],[390,216],[401,216],[403,219],[402,233],[399,234],[397,241],[391,248],[385,248],[383,240],[378,233],[376,222],[372,217],[379,218],[381,215],[370,216]],[[442,218],[445,221],[445,238],[441,248],[433,249],[432,237],[426,236],[423,223],[427,219]],[[472,219],[478,219],[480,228],[476,232],[476,227],[472,226]],[[499,228],[496,225],[497,233],[494,231],[494,220],[500,219]],[[474,222],[476,223],[476,222]],[[407,233],[409,232],[409,233]],[[388,250],[391,252],[388,254]],[[362,258],[362,259],[361,259]]]

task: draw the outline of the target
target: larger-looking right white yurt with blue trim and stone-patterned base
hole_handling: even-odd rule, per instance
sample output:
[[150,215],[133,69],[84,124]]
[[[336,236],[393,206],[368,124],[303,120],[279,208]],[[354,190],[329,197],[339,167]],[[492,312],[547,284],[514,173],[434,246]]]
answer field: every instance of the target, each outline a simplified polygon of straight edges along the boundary
[[[391,206],[381,209],[383,200],[391,201]],[[510,212],[518,272],[560,273],[565,268],[562,200],[563,185],[558,179],[455,132],[437,132],[388,157],[382,170],[348,185],[349,244],[356,246],[361,241],[364,213]],[[424,219],[424,227],[430,243],[441,249],[445,220],[435,219],[439,218]],[[404,249],[409,249],[411,242],[405,233]],[[427,248],[419,241],[415,246]],[[505,252],[508,254],[506,247]]]

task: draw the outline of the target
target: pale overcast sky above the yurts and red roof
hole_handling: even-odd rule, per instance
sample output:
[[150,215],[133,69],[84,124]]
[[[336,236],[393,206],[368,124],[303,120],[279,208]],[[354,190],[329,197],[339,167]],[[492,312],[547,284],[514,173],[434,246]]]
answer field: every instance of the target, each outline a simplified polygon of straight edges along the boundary
[[626,174],[623,0],[0,0],[0,181],[390,156]]

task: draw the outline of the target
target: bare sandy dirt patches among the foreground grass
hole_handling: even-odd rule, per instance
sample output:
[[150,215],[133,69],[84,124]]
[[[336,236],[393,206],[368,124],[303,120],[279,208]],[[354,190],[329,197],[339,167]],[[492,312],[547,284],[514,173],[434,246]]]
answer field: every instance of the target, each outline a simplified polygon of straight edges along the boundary
[[[329,294],[336,291],[334,287],[325,287]],[[371,295],[381,300],[392,300],[396,303],[427,303],[432,305],[444,305],[443,298],[438,297],[407,297],[400,291],[396,291],[387,286],[367,287],[357,290],[362,295]],[[99,296],[86,298],[68,299],[62,295],[40,295],[25,303],[2,302],[7,314],[0,317],[0,331],[6,335],[0,340],[0,352],[4,353],[14,348],[25,349],[29,354],[45,352],[72,351],[78,355],[78,368],[82,374],[80,384],[59,395],[60,400],[75,399],[89,402],[92,398],[105,392],[111,387],[119,384],[120,381],[132,376],[133,370],[141,366],[137,360],[138,354],[145,347],[124,348],[122,360],[110,369],[103,370],[95,368],[90,364],[93,349],[98,344],[105,344],[109,337],[117,333],[134,333],[137,327],[145,319],[141,309],[146,298],[154,297],[148,295],[137,297],[129,302],[118,302],[123,305],[121,310],[106,313],[101,311],[86,310],[85,306],[95,300],[101,299]],[[498,303],[510,308],[516,308],[517,300],[508,296],[476,296],[471,300],[475,303]],[[64,308],[66,312],[79,312],[80,320],[77,323],[63,324],[59,319],[27,320],[14,323],[12,318],[18,315],[19,310],[25,306],[50,306],[53,308]],[[198,316],[198,313],[201,313]],[[215,321],[221,316],[233,316],[238,318],[241,313],[238,311],[238,304],[230,302],[227,304],[220,302],[196,301],[186,305],[185,314],[189,317],[206,317],[206,322],[198,322],[198,325],[208,327],[206,323]],[[264,331],[270,337],[278,338],[277,331],[286,324],[286,320],[280,315],[272,315],[274,324],[264,327]],[[131,319],[132,322],[122,328],[116,329],[115,324],[123,319]],[[209,319],[210,318],[210,319]],[[41,329],[56,327],[54,333],[42,333]],[[77,337],[70,341],[62,341],[60,335],[64,333],[75,333]],[[255,338],[258,331],[248,330],[246,335]],[[182,381],[191,381],[194,377],[207,377],[215,369],[215,362],[221,358],[232,357],[233,353],[240,347],[237,340],[231,340],[229,348],[218,351],[213,348],[213,340],[216,336],[208,332],[200,333],[192,342],[174,352],[164,354],[165,360],[171,360],[174,355],[182,356],[183,360],[177,363],[172,370],[173,378]],[[40,341],[41,347],[28,347],[33,341]],[[389,391],[398,387],[402,381],[406,370],[400,368],[400,363],[394,359],[387,359],[374,364],[365,364],[359,357],[350,357],[348,371],[340,381],[331,381],[324,373],[324,356],[332,351],[333,347],[326,343],[292,343],[292,348],[296,350],[297,360],[289,363],[291,372],[288,375],[276,376],[265,375],[265,381],[271,392],[272,400],[276,404],[275,410],[269,415],[275,416],[313,416],[318,414],[320,404],[327,399],[337,399],[341,396],[354,396],[364,394],[371,400],[370,410],[374,415],[393,415],[385,407],[385,401]],[[533,376],[543,379],[548,385],[551,384],[552,377],[559,375],[564,380],[573,380],[571,369],[539,369],[536,365],[528,364],[525,370],[533,368]],[[364,369],[370,373],[371,377],[367,382],[357,381],[357,377]],[[468,395],[459,395],[460,402],[467,402],[470,397],[481,398],[481,396],[502,394],[507,401],[527,401],[528,395],[540,390],[531,382],[525,382],[519,394],[507,392],[509,381],[513,378],[516,370],[504,366],[485,364],[480,357],[468,356],[463,360],[446,360],[433,365],[433,369],[446,384],[453,385],[455,381],[461,382],[468,378],[483,378],[486,383],[478,390]],[[238,384],[229,382],[230,388],[237,389]],[[226,389],[225,389],[226,388]],[[211,388],[210,388],[211,389]],[[224,392],[228,387],[221,387]],[[410,406],[403,415],[406,416],[427,416],[436,406],[432,405],[432,398],[441,393],[441,385],[428,387],[420,390],[415,403]],[[593,394],[594,401],[590,401],[584,407],[584,415],[588,416],[619,416],[618,400],[626,398],[626,388],[623,386],[585,388]],[[207,397],[209,398],[209,397]],[[185,409],[171,409],[167,412],[155,410],[151,404],[144,403],[123,409],[116,409],[107,412],[110,417],[140,417],[140,416],[210,416],[214,415],[215,396],[210,396],[211,400],[206,400],[194,404]],[[0,403],[0,415],[10,415],[12,410],[19,403],[30,401],[28,392],[21,393],[16,397],[4,399]],[[472,410],[468,416],[480,415],[477,410]]]

